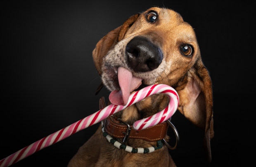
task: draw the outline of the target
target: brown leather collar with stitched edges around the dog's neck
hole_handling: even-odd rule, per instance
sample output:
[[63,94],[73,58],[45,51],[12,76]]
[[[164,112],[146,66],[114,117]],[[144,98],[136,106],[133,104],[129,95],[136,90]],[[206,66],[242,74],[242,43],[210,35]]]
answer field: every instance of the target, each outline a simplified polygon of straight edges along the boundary
[[[118,121],[114,118],[114,116],[109,116],[105,122],[105,131],[107,134],[111,135],[112,137],[123,139],[126,136],[128,126],[123,124],[121,121]],[[163,122],[158,125],[154,125],[147,129],[143,130],[135,130],[133,126],[130,125],[130,134],[128,135],[129,139],[143,139],[146,141],[158,141],[164,139],[168,130],[168,124]]]

